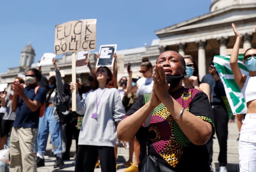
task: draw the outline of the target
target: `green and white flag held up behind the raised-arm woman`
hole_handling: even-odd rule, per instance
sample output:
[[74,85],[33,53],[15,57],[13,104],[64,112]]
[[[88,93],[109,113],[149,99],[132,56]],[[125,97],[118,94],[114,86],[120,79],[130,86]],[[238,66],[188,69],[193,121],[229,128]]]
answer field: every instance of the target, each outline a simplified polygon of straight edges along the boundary
[[[248,75],[249,71],[243,63],[244,55],[239,54],[238,56],[238,66],[244,75]],[[233,115],[244,114],[247,111],[246,103],[241,93],[239,86],[237,85],[234,74],[230,67],[230,55],[220,56],[215,55],[213,58],[213,63],[215,68],[218,70],[220,79],[224,85],[228,103],[230,105]]]

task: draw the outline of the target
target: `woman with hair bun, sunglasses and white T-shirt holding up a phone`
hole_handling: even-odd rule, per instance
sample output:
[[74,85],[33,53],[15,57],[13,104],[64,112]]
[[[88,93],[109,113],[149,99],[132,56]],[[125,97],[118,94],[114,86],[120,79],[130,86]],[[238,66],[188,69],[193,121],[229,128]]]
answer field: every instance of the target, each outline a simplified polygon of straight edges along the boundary
[[[147,58],[142,59],[142,63],[140,65],[140,71],[139,71],[143,77],[138,79],[137,83],[132,86],[132,69],[128,71],[129,78],[127,81],[127,93],[136,92],[138,96],[144,95],[147,93],[152,92],[153,88],[153,78],[152,78],[152,72],[153,67],[150,61],[148,61]],[[139,155],[140,155],[140,144],[136,137],[134,138],[134,163],[131,164],[130,167],[126,168],[124,172],[134,172],[138,171],[138,165],[139,165]]]

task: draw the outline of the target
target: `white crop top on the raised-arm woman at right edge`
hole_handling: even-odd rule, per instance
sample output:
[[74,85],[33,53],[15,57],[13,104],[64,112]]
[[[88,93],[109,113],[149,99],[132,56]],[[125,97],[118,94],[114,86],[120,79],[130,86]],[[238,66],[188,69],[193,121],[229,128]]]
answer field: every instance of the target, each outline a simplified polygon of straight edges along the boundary
[[244,83],[244,87],[241,90],[246,103],[256,99],[255,86],[256,86],[256,76],[254,77],[247,76],[246,81]]

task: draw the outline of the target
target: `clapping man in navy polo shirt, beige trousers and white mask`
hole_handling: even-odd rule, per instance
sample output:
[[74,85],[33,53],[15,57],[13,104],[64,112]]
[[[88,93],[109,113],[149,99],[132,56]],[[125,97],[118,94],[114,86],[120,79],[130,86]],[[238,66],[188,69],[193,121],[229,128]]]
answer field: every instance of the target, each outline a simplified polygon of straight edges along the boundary
[[25,83],[14,82],[12,90],[12,111],[16,117],[10,137],[10,172],[36,172],[34,142],[38,130],[39,111],[46,98],[46,90],[39,87],[35,93],[41,73],[30,68],[26,72]]

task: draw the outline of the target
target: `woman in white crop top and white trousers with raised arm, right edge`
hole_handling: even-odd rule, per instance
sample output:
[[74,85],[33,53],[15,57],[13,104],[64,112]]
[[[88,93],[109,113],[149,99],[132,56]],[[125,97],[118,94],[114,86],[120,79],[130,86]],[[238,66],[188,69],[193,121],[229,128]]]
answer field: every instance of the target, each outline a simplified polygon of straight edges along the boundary
[[[240,171],[256,171],[256,47],[249,48],[244,53],[244,64],[249,70],[249,75],[242,74],[238,65],[238,52],[242,36],[232,23],[236,42],[230,56],[230,67],[234,79],[241,89],[247,105],[247,114],[241,127],[239,137],[239,166]],[[255,26],[256,31],[256,26]]]

